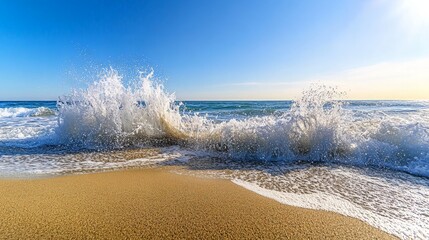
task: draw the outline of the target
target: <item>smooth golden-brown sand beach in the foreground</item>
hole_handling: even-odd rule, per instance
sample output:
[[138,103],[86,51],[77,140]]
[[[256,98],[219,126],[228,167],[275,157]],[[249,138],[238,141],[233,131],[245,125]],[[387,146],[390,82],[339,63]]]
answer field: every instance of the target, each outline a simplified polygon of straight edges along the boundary
[[227,180],[142,169],[0,180],[0,239],[391,239]]

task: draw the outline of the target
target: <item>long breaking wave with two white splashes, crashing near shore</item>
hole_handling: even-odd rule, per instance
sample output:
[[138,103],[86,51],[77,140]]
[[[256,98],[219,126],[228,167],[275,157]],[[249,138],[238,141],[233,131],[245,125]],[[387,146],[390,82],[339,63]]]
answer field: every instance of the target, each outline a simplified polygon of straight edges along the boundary
[[232,159],[339,162],[429,176],[429,117],[354,112],[313,86],[281,114],[214,121],[184,112],[153,72],[125,85],[113,69],[58,101],[57,135],[88,148],[180,144]]

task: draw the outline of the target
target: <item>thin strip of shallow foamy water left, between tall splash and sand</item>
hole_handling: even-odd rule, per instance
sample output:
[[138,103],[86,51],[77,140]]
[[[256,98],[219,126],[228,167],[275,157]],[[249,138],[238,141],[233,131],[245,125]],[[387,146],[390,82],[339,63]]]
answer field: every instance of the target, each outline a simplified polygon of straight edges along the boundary
[[[1,147],[1,146],[0,146]],[[0,149],[1,151],[1,149]],[[67,148],[22,151],[0,155],[0,178],[39,177],[70,173],[100,172],[147,167],[168,161],[187,161],[186,152],[176,147],[112,151],[70,151]]]

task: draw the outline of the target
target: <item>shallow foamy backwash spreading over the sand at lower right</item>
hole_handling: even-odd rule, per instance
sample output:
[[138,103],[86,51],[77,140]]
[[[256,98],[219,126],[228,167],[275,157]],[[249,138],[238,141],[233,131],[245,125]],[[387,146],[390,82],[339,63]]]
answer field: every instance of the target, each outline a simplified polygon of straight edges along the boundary
[[429,237],[425,178],[336,164],[261,164],[210,157],[186,166],[179,173],[230,179],[281,203],[358,218],[402,239]]

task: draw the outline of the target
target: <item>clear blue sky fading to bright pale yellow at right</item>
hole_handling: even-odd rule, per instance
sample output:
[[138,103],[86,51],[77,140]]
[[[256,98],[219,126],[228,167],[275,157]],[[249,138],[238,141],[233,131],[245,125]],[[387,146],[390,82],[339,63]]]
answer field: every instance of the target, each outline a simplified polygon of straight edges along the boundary
[[112,66],[179,99],[429,99],[427,0],[1,1],[0,100],[55,100]]

